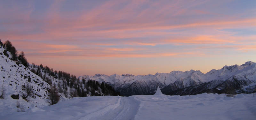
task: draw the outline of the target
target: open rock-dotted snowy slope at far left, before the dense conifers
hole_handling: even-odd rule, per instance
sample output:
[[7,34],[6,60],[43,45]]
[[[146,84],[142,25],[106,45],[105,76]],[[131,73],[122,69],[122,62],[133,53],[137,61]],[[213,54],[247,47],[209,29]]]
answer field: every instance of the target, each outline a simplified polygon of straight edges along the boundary
[[[4,99],[0,99],[0,115],[8,114],[8,112],[17,111],[16,103],[17,99],[13,99],[11,95],[19,96],[20,105],[24,105],[24,109],[27,110],[31,107],[44,107],[49,105],[47,90],[50,85],[31,72],[27,67],[22,64],[16,64],[16,62],[10,60],[7,56],[1,55],[4,49],[0,48],[0,89],[4,87]],[[7,52],[9,53],[9,52]],[[11,55],[9,53],[9,55]],[[27,101],[22,99],[22,85],[29,84],[32,86],[34,94],[28,96]]]

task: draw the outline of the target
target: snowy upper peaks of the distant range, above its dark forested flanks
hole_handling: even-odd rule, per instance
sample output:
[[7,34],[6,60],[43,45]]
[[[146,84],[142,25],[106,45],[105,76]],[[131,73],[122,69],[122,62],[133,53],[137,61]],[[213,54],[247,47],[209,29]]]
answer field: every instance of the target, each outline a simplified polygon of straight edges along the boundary
[[[156,73],[155,75],[131,75],[131,74],[123,74],[123,75],[102,75],[96,74],[94,76],[80,76],[81,79],[92,79],[101,82],[107,82],[112,84],[115,89],[127,88],[132,85],[134,82],[140,82],[148,84],[152,81],[156,83],[161,83],[165,87],[170,85],[171,83],[179,83],[176,84],[177,87],[184,88],[189,86],[194,86],[196,84],[202,84],[204,82],[210,82],[213,80],[222,80],[225,81],[233,76],[244,76],[243,79],[248,79],[256,82],[256,64],[254,62],[246,62],[242,65],[232,65],[232,66],[224,66],[220,70],[211,70],[207,73],[202,73],[201,71],[172,71],[170,73]],[[195,84],[196,83],[196,84]],[[152,86],[150,86],[152,87]],[[244,91],[246,91],[244,89]]]

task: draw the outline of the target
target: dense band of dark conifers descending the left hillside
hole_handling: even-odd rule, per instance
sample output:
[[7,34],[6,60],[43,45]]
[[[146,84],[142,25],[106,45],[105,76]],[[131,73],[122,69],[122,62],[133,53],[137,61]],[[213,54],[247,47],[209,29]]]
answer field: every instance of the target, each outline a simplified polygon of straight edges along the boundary
[[50,69],[42,64],[35,65],[32,63],[29,68],[49,85],[56,84],[58,92],[63,93],[65,97],[119,95],[119,92],[116,92],[112,86],[104,82],[99,83],[99,81],[91,79],[80,80],[75,75],[70,75],[70,73],[64,71],[53,71],[52,68]]

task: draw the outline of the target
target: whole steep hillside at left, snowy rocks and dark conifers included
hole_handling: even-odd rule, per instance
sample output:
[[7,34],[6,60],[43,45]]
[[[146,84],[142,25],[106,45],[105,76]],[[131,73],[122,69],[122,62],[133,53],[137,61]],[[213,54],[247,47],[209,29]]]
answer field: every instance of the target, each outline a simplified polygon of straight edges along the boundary
[[[55,95],[60,96],[60,101],[72,97],[118,95],[108,84],[79,80],[72,74],[53,71],[42,64],[28,64],[24,61],[25,64],[21,64],[21,60],[27,61],[24,52],[21,52],[24,59],[20,59],[20,54],[13,61],[13,53],[7,51],[1,41],[0,44],[0,115],[50,105],[49,92],[53,86],[55,86]],[[12,46],[10,41],[9,46]],[[9,48],[16,51],[13,46]]]

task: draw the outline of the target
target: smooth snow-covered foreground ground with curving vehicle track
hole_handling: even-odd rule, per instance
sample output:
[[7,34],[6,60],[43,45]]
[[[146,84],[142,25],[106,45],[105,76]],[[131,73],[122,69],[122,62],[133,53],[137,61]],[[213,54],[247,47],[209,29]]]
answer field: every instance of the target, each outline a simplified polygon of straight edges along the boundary
[[[44,108],[0,116],[1,120],[255,120],[256,97],[238,94],[79,97]],[[1,100],[0,100],[1,104]]]

